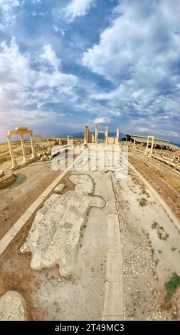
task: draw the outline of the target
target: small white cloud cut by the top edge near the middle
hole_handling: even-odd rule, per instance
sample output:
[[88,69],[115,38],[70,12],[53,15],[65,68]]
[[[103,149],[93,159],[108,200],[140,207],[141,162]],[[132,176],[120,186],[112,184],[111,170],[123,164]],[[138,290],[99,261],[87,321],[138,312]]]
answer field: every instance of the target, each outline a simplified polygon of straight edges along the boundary
[[65,19],[74,21],[78,16],[85,16],[94,2],[95,0],[72,0],[63,10]]

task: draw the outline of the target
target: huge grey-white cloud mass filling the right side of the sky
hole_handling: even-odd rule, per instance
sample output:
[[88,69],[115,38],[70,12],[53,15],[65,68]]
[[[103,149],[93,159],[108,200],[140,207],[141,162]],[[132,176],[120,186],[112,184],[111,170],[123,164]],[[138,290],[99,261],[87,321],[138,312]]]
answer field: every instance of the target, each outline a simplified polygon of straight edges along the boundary
[[[144,121],[178,133],[180,100],[180,1],[122,0],[100,42],[82,58],[84,66],[104,76],[115,88],[96,90],[91,103],[120,110],[129,120]],[[172,129],[174,128],[174,130]],[[169,130],[169,131],[167,131]]]

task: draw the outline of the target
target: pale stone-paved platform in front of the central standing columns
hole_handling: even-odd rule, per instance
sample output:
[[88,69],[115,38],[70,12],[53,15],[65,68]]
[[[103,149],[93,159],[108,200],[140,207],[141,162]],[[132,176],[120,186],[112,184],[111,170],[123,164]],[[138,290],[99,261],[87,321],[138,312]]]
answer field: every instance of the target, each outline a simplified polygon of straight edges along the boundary
[[[52,170],[65,170],[70,165],[72,171],[113,171],[116,177],[125,178],[128,175],[127,145],[78,145],[73,140],[68,145],[55,145],[51,154]],[[75,162],[75,158],[80,159]]]

